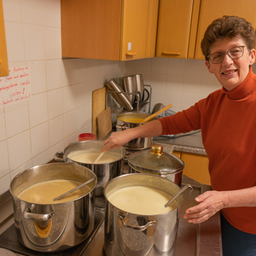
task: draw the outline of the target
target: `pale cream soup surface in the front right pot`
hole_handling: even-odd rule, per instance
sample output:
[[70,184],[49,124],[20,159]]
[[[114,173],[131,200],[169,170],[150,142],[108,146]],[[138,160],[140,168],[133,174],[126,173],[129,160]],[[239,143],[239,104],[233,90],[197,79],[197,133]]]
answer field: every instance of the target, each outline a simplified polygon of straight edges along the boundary
[[156,215],[171,212],[178,207],[177,201],[173,201],[170,206],[165,207],[167,201],[171,198],[172,195],[168,195],[159,189],[131,186],[113,192],[108,196],[108,201],[125,212]]

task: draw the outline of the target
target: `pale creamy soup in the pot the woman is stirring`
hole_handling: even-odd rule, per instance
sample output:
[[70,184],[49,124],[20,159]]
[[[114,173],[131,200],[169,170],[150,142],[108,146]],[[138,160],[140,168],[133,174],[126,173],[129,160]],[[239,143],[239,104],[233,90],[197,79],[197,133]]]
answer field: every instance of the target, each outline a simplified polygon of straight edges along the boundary
[[[90,153],[86,150],[79,150],[71,152],[67,157],[73,161],[77,161],[84,164],[93,164],[100,153]],[[102,157],[96,162],[96,164],[107,164],[119,160],[119,158],[113,154],[105,152]]]

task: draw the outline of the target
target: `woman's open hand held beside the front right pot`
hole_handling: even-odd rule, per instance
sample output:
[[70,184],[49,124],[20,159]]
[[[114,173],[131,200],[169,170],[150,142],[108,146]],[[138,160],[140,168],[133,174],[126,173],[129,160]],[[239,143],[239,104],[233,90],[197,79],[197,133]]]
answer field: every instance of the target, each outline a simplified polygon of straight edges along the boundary
[[188,218],[189,223],[199,224],[212,217],[216,212],[225,207],[224,192],[207,191],[195,198],[199,204],[187,209],[183,218]]

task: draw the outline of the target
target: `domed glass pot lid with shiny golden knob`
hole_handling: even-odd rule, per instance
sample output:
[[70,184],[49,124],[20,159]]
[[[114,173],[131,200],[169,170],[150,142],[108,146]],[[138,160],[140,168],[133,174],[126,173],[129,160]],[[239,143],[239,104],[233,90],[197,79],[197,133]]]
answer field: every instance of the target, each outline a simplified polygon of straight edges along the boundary
[[151,149],[130,154],[127,158],[129,166],[143,172],[157,172],[171,174],[183,171],[183,160],[172,154],[163,152],[160,144],[155,144]]

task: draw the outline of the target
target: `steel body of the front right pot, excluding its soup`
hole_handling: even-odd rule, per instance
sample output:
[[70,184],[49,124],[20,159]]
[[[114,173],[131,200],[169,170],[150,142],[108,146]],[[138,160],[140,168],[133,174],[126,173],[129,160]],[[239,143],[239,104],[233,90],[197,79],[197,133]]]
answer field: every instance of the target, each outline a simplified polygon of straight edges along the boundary
[[108,256],[172,256],[183,195],[177,197],[178,207],[171,212],[147,216],[125,212],[108,201],[109,195],[113,192],[133,185],[160,189],[172,196],[180,190],[175,183],[152,174],[126,174],[111,180],[104,189],[107,199],[105,253]]

